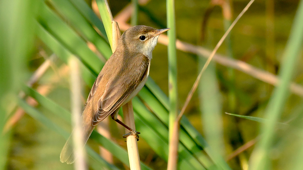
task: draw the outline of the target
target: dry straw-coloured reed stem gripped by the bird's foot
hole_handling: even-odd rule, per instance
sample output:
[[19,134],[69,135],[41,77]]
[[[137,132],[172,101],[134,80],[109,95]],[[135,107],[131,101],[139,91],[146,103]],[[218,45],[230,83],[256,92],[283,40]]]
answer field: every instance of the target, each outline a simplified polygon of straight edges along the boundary
[[[115,51],[118,43],[118,39],[120,38],[120,29],[118,23],[112,21],[112,50]],[[133,130],[135,129],[135,118],[134,118],[134,111],[132,107],[132,100],[122,106],[124,122]],[[125,129],[125,133],[129,133],[128,129]],[[140,165],[140,157],[139,157],[139,150],[138,150],[138,142],[137,138],[134,135],[130,135],[126,137],[126,145],[127,145],[127,152],[128,152],[128,160],[129,160],[129,167],[131,170],[139,170],[141,169]]]

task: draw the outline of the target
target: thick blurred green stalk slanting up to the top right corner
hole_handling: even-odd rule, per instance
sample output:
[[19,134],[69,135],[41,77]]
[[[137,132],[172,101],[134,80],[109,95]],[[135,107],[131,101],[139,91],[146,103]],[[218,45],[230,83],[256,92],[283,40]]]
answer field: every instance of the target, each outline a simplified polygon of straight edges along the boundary
[[260,142],[251,154],[250,170],[262,170],[270,167],[269,150],[275,137],[275,125],[285,106],[285,101],[289,95],[289,85],[295,71],[298,54],[303,42],[303,1],[299,3],[298,10],[293,21],[291,33],[285,47],[283,61],[281,62],[281,78],[278,86],[268,103],[265,119],[266,123],[261,126]]

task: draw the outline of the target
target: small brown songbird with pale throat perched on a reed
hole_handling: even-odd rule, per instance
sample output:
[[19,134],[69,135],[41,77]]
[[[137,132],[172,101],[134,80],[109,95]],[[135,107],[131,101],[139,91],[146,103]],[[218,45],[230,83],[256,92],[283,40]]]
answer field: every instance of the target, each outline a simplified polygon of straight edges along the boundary
[[[121,35],[115,52],[105,63],[88,95],[82,113],[84,143],[94,127],[108,115],[131,131],[123,137],[135,135],[139,139],[140,132],[118,120],[117,114],[120,107],[132,100],[144,86],[158,37],[169,29],[138,25]],[[72,164],[75,159],[71,136],[60,154],[60,161],[67,164]]]

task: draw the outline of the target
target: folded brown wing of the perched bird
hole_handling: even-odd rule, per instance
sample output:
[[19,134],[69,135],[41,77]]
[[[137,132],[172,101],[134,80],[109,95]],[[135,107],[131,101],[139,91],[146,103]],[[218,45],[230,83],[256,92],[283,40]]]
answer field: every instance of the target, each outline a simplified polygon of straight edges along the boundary
[[[141,64],[139,67],[134,64],[135,61],[129,61],[131,63],[125,64],[121,74],[118,74],[119,77],[111,77],[108,80],[105,91],[98,100],[98,109],[92,116],[93,126],[97,125],[98,122],[102,121],[108,115],[114,113],[115,110],[121,107],[121,104],[128,99],[132,92],[142,82],[143,78],[147,76],[149,69],[148,58],[145,56],[140,57],[142,58],[140,60]],[[95,83],[98,83],[97,80]]]

